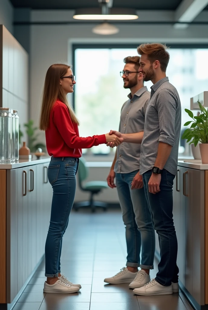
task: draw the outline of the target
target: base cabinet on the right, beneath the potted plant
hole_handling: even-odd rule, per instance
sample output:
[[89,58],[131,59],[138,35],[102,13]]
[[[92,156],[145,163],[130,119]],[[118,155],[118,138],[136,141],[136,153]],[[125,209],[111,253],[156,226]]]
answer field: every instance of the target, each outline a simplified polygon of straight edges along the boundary
[[179,279],[200,305],[205,304],[204,175],[204,170],[178,166],[173,187]]

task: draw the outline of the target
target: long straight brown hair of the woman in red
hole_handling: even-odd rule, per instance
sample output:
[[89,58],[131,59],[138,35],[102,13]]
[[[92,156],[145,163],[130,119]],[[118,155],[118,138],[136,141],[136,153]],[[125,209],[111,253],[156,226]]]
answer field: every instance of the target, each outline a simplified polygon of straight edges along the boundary
[[65,75],[68,69],[70,69],[70,66],[66,64],[52,64],[46,73],[39,122],[40,130],[46,130],[48,128],[50,111],[54,102],[57,99],[66,104],[72,122],[79,125],[79,121],[76,118],[74,110],[72,106],[68,103],[67,96],[62,86],[60,85],[60,77]]

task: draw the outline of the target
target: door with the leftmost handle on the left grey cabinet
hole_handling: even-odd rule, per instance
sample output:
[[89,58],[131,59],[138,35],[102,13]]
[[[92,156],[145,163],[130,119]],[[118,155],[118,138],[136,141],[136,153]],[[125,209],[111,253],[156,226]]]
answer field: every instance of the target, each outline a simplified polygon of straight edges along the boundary
[[18,291],[28,278],[28,167],[18,169]]

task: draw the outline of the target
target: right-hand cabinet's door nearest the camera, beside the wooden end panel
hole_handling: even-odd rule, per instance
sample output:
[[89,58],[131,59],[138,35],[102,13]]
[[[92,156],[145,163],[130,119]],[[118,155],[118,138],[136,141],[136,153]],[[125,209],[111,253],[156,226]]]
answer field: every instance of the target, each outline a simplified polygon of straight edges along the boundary
[[[187,169],[186,288],[204,303],[204,171]],[[197,266],[197,268],[196,268]]]

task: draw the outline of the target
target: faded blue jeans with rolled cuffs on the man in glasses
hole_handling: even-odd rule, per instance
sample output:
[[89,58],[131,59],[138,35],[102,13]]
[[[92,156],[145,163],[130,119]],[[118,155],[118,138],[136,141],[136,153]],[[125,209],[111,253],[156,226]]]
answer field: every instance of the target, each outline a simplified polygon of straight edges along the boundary
[[153,269],[155,235],[145,191],[144,188],[131,189],[132,180],[138,171],[115,175],[123,221],[126,226],[128,253],[126,266]]

